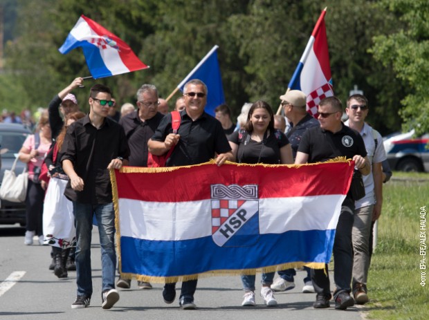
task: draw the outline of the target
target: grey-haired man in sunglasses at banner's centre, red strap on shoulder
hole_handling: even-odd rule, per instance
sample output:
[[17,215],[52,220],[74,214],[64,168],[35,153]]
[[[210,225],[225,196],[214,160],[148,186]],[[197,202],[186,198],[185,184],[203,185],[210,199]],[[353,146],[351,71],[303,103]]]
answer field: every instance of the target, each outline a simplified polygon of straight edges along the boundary
[[[149,152],[162,156],[176,144],[167,167],[200,164],[215,158],[217,165],[232,160],[232,152],[221,123],[204,112],[207,102],[207,86],[199,79],[192,79],[183,90],[185,110],[180,111],[181,125],[178,133],[172,133],[172,115],[166,115],[147,143]],[[183,281],[179,305],[182,309],[192,310],[197,280]],[[176,283],[166,283],[163,290],[165,303],[173,303],[176,298]]]

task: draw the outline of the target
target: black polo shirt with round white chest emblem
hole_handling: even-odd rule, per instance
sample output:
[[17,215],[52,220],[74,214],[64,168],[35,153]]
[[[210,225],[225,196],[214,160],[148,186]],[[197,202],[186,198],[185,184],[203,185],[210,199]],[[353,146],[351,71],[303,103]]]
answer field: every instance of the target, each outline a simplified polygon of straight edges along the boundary
[[323,130],[320,126],[307,129],[302,135],[298,151],[309,155],[309,163],[323,162],[338,156],[367,156],[365,143],[358,131],[344,124],[342,126],[336,133]]

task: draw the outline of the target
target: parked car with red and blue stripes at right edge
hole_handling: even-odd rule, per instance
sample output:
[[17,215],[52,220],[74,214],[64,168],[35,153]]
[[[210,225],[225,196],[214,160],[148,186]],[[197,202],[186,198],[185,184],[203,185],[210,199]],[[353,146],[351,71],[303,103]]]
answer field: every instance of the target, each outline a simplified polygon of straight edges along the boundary
[[429,134],[414,137],[412,131],[393,135],[383,141],[390,168],[396,171],[429,172]]

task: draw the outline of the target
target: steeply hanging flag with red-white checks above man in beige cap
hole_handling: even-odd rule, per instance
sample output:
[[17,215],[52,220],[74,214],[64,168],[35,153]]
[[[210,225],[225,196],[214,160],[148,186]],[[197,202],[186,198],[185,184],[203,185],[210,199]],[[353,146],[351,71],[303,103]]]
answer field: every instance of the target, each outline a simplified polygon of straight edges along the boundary
[[290,90],[300,90],[307,95],[307,111],[315,117],[320,100],[334,95],[325,15],[326,8],[322,11],[313,33],[311,33],[309,42],[288,85]]

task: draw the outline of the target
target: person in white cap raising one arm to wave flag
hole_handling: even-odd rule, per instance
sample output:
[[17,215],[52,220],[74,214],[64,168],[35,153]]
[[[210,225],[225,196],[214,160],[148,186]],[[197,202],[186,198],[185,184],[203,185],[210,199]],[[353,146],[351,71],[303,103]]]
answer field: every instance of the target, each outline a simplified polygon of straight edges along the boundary
[[[78,86],[82,86],[83,82],[84,79],[82,79],[82,77],[77,77],[73,82],[71,82],[71,84],[69,84],[69,86],[66,86],[66,88],[62,89],[60,93],[55,95],[53,100],[49,103],[49,124],[51,125],[53,140],[55,140],[57,135],[60,134],[62,126],[64,125],[62,116],[65,117],[69,113],[79,111],[76,97],[71,93],[71,91]],[[60,115],[60,112],[62,116]]]

